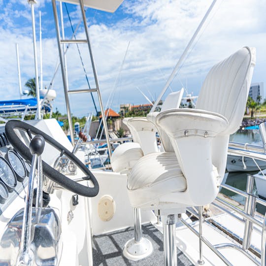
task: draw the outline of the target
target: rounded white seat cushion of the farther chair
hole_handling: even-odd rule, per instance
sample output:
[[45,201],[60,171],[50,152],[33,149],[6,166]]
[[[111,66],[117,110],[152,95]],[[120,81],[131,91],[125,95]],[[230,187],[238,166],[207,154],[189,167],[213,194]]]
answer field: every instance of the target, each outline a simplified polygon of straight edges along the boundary
[[143,157],[139,143],[126,142],[119,145],[111,156],[114,172],[125,173],[132,169],[135,163]]

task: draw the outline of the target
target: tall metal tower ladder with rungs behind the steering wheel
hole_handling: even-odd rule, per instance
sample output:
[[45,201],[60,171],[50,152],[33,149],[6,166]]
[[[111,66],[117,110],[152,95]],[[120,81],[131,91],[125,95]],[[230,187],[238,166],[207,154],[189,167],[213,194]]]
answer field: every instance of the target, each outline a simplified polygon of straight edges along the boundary
[[[111,151],[112,151],[111,150],[111,143],[110,143],[110,139],[109,139],[109,133],[108,133],[105,113],[104,113],[104,109],[103,109],[102,98],[101,98],[101,94],[100,94],[100,86],[99,86],[97,70],[96,70],[96,66],[95,66],[95,62],[94,62],[94,57],[93,57],[89,33],[88,33],[88,26],[87,26],[87,20],[86,20],[86,14],[85,14],[83,0],[79,0],[79,5],[80,5],[81,15],[82,15],[82,19],[83,19],[84,30],[86,33],[86,39],[61,39],[56,0],[52,0],[52,5],[53,5],[53,12],[54,12],[55,28],[56,28],[56,34],[57,34],[57,44],[58,44],[61,72],[62,72],[62,78],[63,78],[63,86],[64,86],[65,100],[66,100],[66,111],[67,111],[67,119],[68,119],[68,123],[69,123],[71,142],[72,142],[72,144],[74,144],[74,132],[73,132],[73,125],[72,125],[68,95],[69,94],[76,94],[76,93],[97,92],[99,103],[100,103],[100,111],[101,111],[101,115],[102,115],[104,133],[105,133],[106,141],[107,141],[108,152],[109,152],[109,156],[111,156]],[[70,44],[70,43],[87,43],[88,44],[89,53],[90,53],[90,60],[91,60],[92,68],[93,68],[93,74],[94,74],[96,88],[82,89],[82,90],[69,90],[68,89],[68,83],[67,83],[67,79],[66,79],[66,67],[65,67],[65,60],[64,60],[64,51],[62,49],[62,44],[64,44],[64,43],[68,43],[68,44]]]

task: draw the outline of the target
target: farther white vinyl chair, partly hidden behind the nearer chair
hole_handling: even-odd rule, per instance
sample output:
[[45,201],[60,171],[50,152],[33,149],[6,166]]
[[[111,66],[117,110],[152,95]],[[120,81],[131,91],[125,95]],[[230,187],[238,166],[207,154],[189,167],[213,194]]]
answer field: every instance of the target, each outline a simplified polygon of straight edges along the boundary
[[[162,110],[178,108],[183,96],[183,89],[170,93]],[[130,129],[133,142],[126,142],[119,145],[111,156],[111,165],[113,171],[120,173],[129,173],[134,164],[146,154],[158,152],[156,132],[157,128],[146,117],[124,118],[123,122]]]

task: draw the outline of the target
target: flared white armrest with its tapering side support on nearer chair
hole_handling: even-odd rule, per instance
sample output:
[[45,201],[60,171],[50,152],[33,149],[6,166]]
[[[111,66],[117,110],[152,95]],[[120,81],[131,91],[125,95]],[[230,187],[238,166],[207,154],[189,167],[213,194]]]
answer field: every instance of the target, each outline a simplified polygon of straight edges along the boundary
[[[217,135],[223,135],[228,120],[204,110],[172,109],[160,113],[156,124],[169,136],[187,180],[186,204],[198,206],[212,202],[220,185],[217,166],[212,162],[212,144]],[[221,160],[226,157],[227,154],[221,154]]]

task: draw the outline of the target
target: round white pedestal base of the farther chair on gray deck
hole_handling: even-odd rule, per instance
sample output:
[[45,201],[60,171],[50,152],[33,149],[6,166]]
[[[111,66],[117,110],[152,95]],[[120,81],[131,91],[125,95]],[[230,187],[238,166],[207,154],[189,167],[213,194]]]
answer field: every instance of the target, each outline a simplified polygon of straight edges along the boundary
[[149,239],[141,237],[140,241],[130,239],[123,249],[123,255],[132,261],[138,261],[148,257],[153,251],[152,243]]

